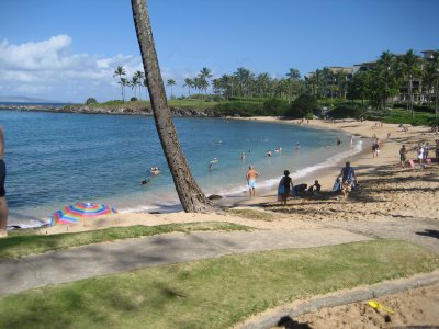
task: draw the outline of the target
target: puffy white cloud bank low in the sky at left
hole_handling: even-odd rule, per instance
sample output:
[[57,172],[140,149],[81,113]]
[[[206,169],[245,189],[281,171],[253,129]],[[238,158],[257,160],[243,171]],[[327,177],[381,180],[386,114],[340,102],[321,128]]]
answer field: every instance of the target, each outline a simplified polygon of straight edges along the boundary
[[[102,58],[71,52],[68,35],[21,45],[0,42],[0,90],[2,94],[34,95],[65,101],[88,97],[102,101],[119,97],[114,69],[123,66],[127,77],[143,70],[139,57],[117,55]],[[98,88],[97,88],[98,86]],[[91,94],[98,92],[100,94]]]

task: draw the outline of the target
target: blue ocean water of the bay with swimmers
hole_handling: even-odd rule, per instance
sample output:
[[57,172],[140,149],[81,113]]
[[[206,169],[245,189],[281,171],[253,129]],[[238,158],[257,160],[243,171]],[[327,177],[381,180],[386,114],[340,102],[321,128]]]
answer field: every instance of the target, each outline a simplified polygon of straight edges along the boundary
[[[247,191],[250,163],[260,174],[258,189],[275,185],[284,169],[295,183],[309,183],[313,172],[362,148],[361,140],[350,145],[350,135],[306,125],[173,121],[192,173],[206,195]],[[52,213],[78,202],[108,203],[120,212],[179,209],[153,117],[0,111],[0,123],[5,129],[9,225],[38,226]],[[281,152],[274,151],[278,146]],[[267,157],[268,150],[272,157]],[[213,158],[218,162],[210,169]],[[160,168],[159,175],[150,174],[154,166]],[[145,179],[149,183],[142,185]]]

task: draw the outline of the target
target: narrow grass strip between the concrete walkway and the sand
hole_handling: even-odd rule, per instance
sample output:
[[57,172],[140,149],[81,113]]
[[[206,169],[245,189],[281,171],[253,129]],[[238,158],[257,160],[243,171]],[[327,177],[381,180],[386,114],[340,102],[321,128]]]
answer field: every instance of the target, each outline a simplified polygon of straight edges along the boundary
[[172,231],[190,232],[203,230],[250,230],[250,227],[232,223],[187,223],[157,226],[112,227],[75,234],[35,235],[32,230],[11,231],[7,238],[0,239],[0,259],[18,258],[26,254],[43,253],[52,250],[86,246],[120,239],[139,238]]

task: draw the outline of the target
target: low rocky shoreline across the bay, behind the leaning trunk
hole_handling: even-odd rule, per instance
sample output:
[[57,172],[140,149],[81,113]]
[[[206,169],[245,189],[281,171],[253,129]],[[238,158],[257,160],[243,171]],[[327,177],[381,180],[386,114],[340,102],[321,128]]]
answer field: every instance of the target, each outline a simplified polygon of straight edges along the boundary
[[[0,110],[52,112],[52,113],[82,113],[82,114],[116,114],[116,115],[153,115],[150,107],[131,105],[130,103],[114,106],[99,105],[46,105],[46,104],[0,104]],[[173,116],[217,116],[213,110],[189,107],[170,107]]]

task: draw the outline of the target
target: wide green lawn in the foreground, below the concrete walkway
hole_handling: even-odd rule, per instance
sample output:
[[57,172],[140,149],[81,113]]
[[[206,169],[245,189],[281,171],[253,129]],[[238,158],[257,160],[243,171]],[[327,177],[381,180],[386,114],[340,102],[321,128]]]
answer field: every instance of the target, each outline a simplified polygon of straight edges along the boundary
[[228,328],[317,294],[439,268],[395,240],[233,254],[35,288],[0,298],[0,328]]

